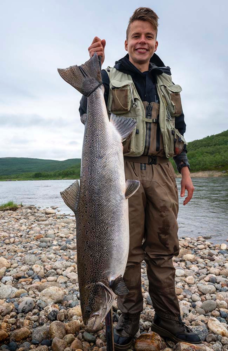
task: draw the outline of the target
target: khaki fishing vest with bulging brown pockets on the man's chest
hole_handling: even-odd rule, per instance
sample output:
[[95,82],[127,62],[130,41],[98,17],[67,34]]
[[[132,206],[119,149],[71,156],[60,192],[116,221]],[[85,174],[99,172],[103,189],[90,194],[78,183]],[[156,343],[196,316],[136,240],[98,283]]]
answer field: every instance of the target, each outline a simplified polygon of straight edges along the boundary
[[110,80],[107,111],[137,120],[133,132],[123,141],[123,153],[128,156],[152,155],[173,157],[182,152],[186,143],[175,128],[175,118],[182,113],[180,85],[170,75],[157,75],[157,102],[141,101],[130,74],[116,68],[105,69]]

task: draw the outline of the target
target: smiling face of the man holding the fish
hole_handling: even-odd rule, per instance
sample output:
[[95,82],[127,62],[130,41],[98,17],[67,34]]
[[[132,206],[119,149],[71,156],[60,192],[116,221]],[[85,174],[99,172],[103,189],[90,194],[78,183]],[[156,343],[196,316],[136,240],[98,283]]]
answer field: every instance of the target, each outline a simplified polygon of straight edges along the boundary
[[156,30],[152,24],[139,20],[132,22],[128,38],[125,40],[125,50],[129,53],[130,62],[137,68],[147,71],[157,47]]

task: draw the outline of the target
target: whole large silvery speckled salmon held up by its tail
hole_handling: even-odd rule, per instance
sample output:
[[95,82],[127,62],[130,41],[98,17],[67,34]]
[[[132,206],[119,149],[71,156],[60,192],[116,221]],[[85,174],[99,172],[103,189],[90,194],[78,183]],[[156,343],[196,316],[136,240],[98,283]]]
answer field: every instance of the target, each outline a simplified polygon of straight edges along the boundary
[[122,140],[136,126],[131,118],[111,115],[104,101],[97,54],[81,66],[58,69],[61,77],[88,97],[80,186],[61,192],[75,213],[77,269],[83,322],[94,329],[109,312],[115,295],[128,292],[123,274],[129,252],[128,200],[139,181],[124,176]]

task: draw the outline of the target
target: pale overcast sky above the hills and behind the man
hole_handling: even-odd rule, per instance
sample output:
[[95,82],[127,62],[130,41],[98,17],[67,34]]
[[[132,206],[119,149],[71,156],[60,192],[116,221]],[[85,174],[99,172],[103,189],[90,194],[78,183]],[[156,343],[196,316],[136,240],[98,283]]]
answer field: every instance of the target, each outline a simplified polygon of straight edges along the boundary
[[228,129],[227,0],[1,1],[0,157],[81,157],[81,94],[57,67],[88,60],[95,35],[113,66],[140,6],[159,16],[156,53],[182,87],[186,140]]

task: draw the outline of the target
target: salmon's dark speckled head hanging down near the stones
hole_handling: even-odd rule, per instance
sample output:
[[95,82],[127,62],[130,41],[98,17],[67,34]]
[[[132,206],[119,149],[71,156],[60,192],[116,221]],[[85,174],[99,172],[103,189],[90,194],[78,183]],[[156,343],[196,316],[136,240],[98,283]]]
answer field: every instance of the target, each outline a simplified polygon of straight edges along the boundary
[[81,298],[82,318],[85,325],[89,319],[95,317],[92,329],[104,320],[106,314],[111,309],[115,294],[104,283],[92,283],[85,286]]

